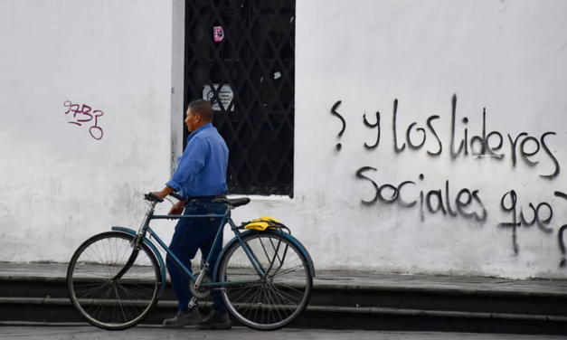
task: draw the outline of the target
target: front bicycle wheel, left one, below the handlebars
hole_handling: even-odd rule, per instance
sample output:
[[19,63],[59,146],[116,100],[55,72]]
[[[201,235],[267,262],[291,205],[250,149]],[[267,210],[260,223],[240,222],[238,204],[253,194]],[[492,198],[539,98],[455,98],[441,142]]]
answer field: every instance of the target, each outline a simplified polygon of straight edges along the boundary
[[133,235],[124,232],[104,232],[81,244],[71,258],[69,297],[93,326],[127,329],[156,306],[162,285],[156,256],[144,243],[135,250],[130,245],[133,240]]

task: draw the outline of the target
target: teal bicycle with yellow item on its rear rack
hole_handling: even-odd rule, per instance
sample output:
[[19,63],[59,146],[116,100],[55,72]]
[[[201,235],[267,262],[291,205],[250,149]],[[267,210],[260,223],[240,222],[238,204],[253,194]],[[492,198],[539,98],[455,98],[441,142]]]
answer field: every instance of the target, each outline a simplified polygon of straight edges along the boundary
[[[176,194],[171,196],[181,200]],[[154,194],[145,194],[145,199],[149,207],[138,231],[112,227],[112,231],[84,241],[71,258],[67,270],[71,303],[91,325],[123,330],[148,316],[166,285],[165,262],[156,244],[188,276],[194,294],[190,307],[197,299],[208,297],[212,290],[221,290],[222,300],[232,316],[257,330],[287,326],[305,310],[315,277],[313,261],[305,247],[291,236],[288,227],[273,218],[236,226],[231,211],[250,203],[249,198],[217,199],[213,202],[226,204],[224,214],[190,216],[156,215],[156,204],[164,199]],[[222,219],[213,247],[226,224],[234,232],[234,238],[223,247],[216,263],[209,263],[209,255],[195,275],[149,227],[152,220],[182,218]],[[126,246],[126,250],[118,250],[118,246]],[[110,260],[103,260],[103,256],[109,256]],[[296,264],[284,264],[288,259]],[[213,269],[213,278],[206,275],[209,269]]]

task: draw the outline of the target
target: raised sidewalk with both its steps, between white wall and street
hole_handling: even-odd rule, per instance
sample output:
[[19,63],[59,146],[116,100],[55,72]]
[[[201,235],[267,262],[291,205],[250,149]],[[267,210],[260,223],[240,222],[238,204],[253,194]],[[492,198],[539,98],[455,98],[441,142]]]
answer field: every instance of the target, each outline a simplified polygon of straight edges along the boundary
[[[0,263],[0,326],[84,323],[71,306],[66,270]],[[89,269],[85,275],[97,278]],[[167,285],[144,323],[160,325],[176,306]],[[291,327],[567,335],[565,306],[567,280],[318,270],[307,311]]]

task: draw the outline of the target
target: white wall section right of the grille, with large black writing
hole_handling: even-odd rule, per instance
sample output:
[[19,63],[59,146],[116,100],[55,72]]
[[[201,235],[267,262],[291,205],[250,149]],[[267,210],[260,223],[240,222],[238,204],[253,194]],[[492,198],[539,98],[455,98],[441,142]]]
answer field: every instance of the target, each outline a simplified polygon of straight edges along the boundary
[[[319,269],[494,275],[510,278],[564,277],[558,231],[567,224],[567,201],[553,195],[567,192],[567,2],[535,0],[298,0],[296,71],[295,199],[288,203],[256,203],[239,216],[278,216],[311,251]],[[500,161],[471,155],[451,159],[451,97],[458,97],[457,143],[468,128],[468,139],[482,136],[482,112],[487,109],[487,134],[499,131],[504,144]],[[393,150],[392,110],[399,100],[398,143],[412,123],[426,129],[420,150]],[[342,128],[331,108],[345,118]],[[377,137],[365,127],[363,115],[375,123],[381,114],[380,144],[366,150]],[[426,125],[430,116],[443,151]],[[468,124],[462,118],[468,118]],[[517,155],[512,165],[507,135],[520,132],[545,137],[562,172],[553,180],[552,158],[543,148],[529,167]],[[420,143],[421,133],[411,138]],[[524,138],[520,138],[518,147]],[[335,151],[335,144],[342,144]],[[497,137],[490,140],[497,146]],[[477,146],[478,148],[478,146]],[[470,153],[470,146],[468,146]],[[533,142],[525,145],[534,150]],[[406,185],[406,202],[430,190],[442,190],[449,180],[450,202],[462,188],[478,190],[487,220],[462,215],[429,213],[424,204],[411,208],[380,201],[364,206],[374,196],[373,184],[355,174],[363,166],[377,171],[364,175],[378,185]],[[419,179],[423,174],[424,180]],[[553,219],[543,232],[538,226],[517,229],[517,254],[512,222],[503,213],[503,194],[515,190],[517,213],[529,203],[549,203]],[[383,191],[389,197],[387,189]],[[461,199],[465,201],[467,197]],[[506,199],[506,203],[509,198]],[[435,198],[432,199],[435,203]],[[446,203],[445,203],[446,204]],[[446,208],[447,209],[447,208]],[[468,212],[481,213],[473,202]],[[542,219],[549,210],[541,208]],[[518,222],[520,220],[518,219]]]

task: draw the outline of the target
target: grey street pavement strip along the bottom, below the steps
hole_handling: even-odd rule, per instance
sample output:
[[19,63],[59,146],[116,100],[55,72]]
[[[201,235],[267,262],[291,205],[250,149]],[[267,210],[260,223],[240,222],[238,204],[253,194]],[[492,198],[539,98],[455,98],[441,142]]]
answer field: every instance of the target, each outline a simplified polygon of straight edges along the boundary
[[0,339],[39,340],[149,340],[149,339],[206,339],[206,340],[554,340],[564,336],[550,335],[487,335],[460,333],[401,333],[284,329],[258,332],[248,328],[229,331],[197,331],[192,328],[169,330],[137,326],[126,331],[109,332],[92,326],[0,326]]

